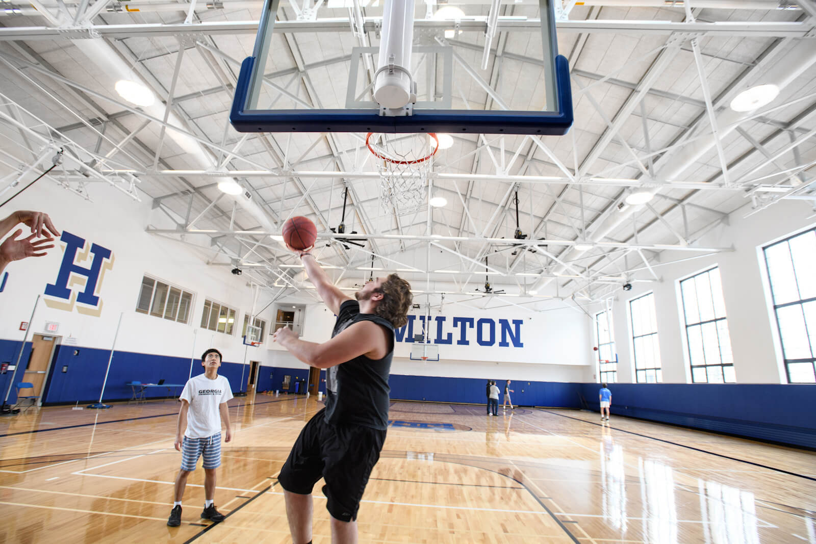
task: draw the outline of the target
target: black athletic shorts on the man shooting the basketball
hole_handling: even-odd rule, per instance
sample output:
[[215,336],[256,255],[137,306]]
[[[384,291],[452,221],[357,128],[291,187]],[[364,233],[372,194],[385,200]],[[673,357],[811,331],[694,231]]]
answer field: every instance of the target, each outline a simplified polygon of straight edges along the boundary
[[290,493],[308,495],[317,480],[326,480],[323,494],[331,517],[357,519],[362,493],[379,460],[386,431],[360,425],[332,425],[318,412],[300,431],[277,480]]

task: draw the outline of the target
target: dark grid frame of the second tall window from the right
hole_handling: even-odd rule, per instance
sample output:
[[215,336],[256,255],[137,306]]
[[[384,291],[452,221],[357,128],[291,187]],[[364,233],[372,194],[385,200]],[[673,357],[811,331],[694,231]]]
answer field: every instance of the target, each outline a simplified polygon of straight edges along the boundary
[[[731,350],[731,333],[730,333],[730,329],[728,328],[728,311],[725,309],[725,297],[724,297],[724,300],[723,300],[723,312],[724,312],[724,315],[722,317],[716,317],[716,306],[715,306],[715,303],[714,303],[715,302],[714,301],[714,292],[713,292],[713,290],[711,288],[711,279],[710,279],[711,278],[711,272],[713,272],[715,270],[717,271],[717,276],[720,277],[720,291],[722,292],[722,276],[721,276],[721,272],[720,272],[720,267],[717,264],[713,264],[710,267],[704,268],[703,270],[701,270],[699,272],[695,272],[694,274],[691,274],[690,276],[685,276],[684,278],[677,281],[677,296],[679,298],[678,306],[680,308],[681,323],[684,325],[684,329],[683,329],[683,336],[685,337],[685,346],[684,346],[685,350],[684,350],[684,353],[685,353],[685,356],[686,356],[687,368],[689,369],[689,374],[687,374],[687,375],[690,378],[690,383],[737,383],[737,381],[736,381],[736,370],[734,369],[734,352],[733,352],[733,350]],[[695,321],[693,323],[689,323],[689,321],[688,321],[688,312],[686,311],[687,308],[685,307],[685,296],[683,294],[683,284],[686,281],[694,281],[694,297],[695,297],[695,302],[697,303],[697,305],[699,307],[700,298],[699,298],[699,294],[698,294],[698,291],[697,291],[696,278],[698,278],[699,276],[703,276],[704,274],[707,274],[708,277],[709,277],[709,283],[708,283],[709,290],[710,290],[709,294],[711,294],[712,308],[713,308],[712,311],[715,312],[714,313],[715,317],[713,317],[712,319],[704,320],[704,321]],[[698,314],[699,313],[701,313],[701,312],[698,312]],[[722,339],[720,338],[721,329],[720,329],[720,326],[718,325],[721,322],[725,323],[725,332],[728,334],[728,347],[729,347],[729,350],[731,351],[731,362],[730,362],[730,364],[723,363],[723,352],[722,352],[723,342],[722,342]],[[706,349],[706,345],[705,345],[705,336],[703,335],[703,325],[708,325],[708,324],[711,324],[711,323],[714,324],[716,335],[717,335],[717,351],[719,352],[719,360],[720,360],[719,363],[715,363],[715,364],[708,363],[708,361],[707,361],[707,349]],[[700,345],[702,347],[702,354],[703,354],[703,364],[702,365],[695,365],[694,364],[695,357],[692,354],[691,337],[690,337],[690,334],[689,334],[689,329],[692,328],[692,327],[697,327],[697,326],[700,328]],[[722,376],[722,381],[721,382],[712,382],[712,381],[710,381],[708,379],[708,369],[713,368],[713,367],[719,367],[720,368],[720,374]],[[731,376],[734,377],[733,381],[729,381],[728,379],[725,378],[725,368],[726,367],[730,367],[730,374],[731,374]],[[705,374],[706,374],[706,381],[704,381],[704,382],[703,381],[697,381],[694,378],[694,374],[695,374],[694,369],[704,369]]]

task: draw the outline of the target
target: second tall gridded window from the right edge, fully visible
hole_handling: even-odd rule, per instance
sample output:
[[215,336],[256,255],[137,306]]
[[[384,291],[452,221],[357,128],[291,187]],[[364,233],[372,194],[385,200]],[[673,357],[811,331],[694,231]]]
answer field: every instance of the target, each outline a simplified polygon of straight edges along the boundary
[[720,269],[712,268],[680,282],[694,383],[734,383],[734,359],[725,321]]

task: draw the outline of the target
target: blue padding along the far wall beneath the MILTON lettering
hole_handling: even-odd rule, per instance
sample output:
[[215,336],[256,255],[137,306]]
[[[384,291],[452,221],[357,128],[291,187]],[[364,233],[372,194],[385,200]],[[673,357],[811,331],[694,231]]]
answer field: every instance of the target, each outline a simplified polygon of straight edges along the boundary
[[[391,398],[396,400],[429,400],[435,402],[469,402],[486,404],[487,380],[481,378],[434,378],[391,374]],[[504,383],[499,387],[499,404],[504,401]],[[580,408],[579,383],[512,382],[513,405],[558,406]]]

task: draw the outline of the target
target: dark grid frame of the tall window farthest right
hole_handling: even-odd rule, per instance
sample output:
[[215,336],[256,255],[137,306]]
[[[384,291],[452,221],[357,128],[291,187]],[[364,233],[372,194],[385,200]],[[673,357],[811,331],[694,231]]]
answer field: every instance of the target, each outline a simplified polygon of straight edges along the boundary
[[[783,244],[783,243],[787,244],[788,254],[791,255],[791,262],[793,263],[793,254],[792,254],[792,250],[791,250],[790,241],[792,241],[794,238],[804,236],[804,235],[808,234],[809,232],[813,232],[814,236],[816,236],[816,226],[810,226],[808,228],[804,228],[804,229],[802,229],[800,231],[794,232],[794,233],[789,234],[789,235],[787,235],[785,237],[781,237],[781,238],[778,238],[778,239],[776,239],[774,241],[770,241],[770,242],[768,242],[766,244],[760,245],[757,248],[758,254],[759,254],[760,258],[761,258],[761,262],[764,264],[764,266],[761,266],[761,270],[762,270],[763,280],[766,281],[766,288],[767,288],[767,291],[766,291],[766,297],[767,298],[766,298],[766,300],[767,300],[767,303],[768,303],[769,317],[771,318],[772,321],[774,321],[774,323],[776,325],[774,327],[774,329],[773,329],[773,331],[774,331],[774,344],[775,344],[774,348],[775,348],[775,351],[778,354],[778,361],[779,361],[779,366],[780,366],[780,378],[783,378],[783,380],[784,380],[783,383],[786,383],[787,385],[796,385],[796,384],[813,385],[814,383],[816,383],[816,344],[812,343],[810,341],[810,339],[808,338],[808,343],[809,343],[809,347],[810,347],[810,355],[811,355],[810,358],[787,359],[787,357],[785,356],[785,344],[784,344],[784,339],[783,339],[784,337],[783,337],[783,334],[782,334],[782,325],[780,325],[780,323],[779,323],[778,309],[783,308],[783,307],[799,306],[800,308],[802,308],[802,312],[804,314],[804,305],[805,305],[805,303],[814,303],[814,302],[816,302],[816,297],[809,297],[807,299],[801,299],[800,298],[800,299],[797,299],[797,300],[777,304],[776,300],[775,300],[775,295],[774,295],[774,281],[773,281],[773,277],[771,276],[771,272],[770,272],[770,265],[769,265],[769,259],[768,259],[768,250],[769,250],[769,248],[774,247],[775,245],[779,245],[779,244]],[[794,268],[794,281],[796,281],[796,292],[797,292],[796,296],[801,297],[800,286],[799,286],[799,278],[796,275],[796,269],[795,268]],[[806,327],[806,321],[805,321],[805,327]],[[805,329],[805,333],[807,333],[806,329]],[[814,382],[792,382],[791,381],[791,370],[790,370],[789,365],[790,364],[800,364],[800,363],[810,363],[813,366],[813,368],[814,368]]]

